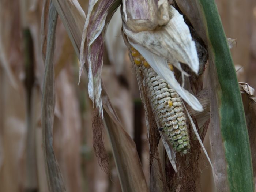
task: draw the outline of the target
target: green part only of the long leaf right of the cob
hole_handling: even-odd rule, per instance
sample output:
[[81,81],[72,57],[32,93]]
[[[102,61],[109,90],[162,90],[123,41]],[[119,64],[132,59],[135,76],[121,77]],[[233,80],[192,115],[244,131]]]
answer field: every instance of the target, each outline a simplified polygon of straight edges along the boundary
[[[210,59],[216,70],[216,104],[230,191],[254,191],[251,150],[236,70],[214,0],[199,0]],[[211,63],[210,61],[210,63]],[[212,79],[211,79],[212,80]],[[214,83],[212,83],[214,84]],[[212,122],[212,124],[218,122]],[[214,125],[217,126],[218,125]],[[211,127],[211,128],[214,128]],[[214,150],[214,149],[213,149]],[[218,165],[217,165],[218,166]]]

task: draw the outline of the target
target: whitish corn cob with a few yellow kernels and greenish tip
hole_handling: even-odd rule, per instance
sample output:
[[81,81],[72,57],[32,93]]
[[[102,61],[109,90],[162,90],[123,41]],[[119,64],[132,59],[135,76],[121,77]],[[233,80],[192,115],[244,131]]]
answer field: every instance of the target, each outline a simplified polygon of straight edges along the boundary
[[[169,139],[172,148],[182,154],[190,149],[187,120],[180,96],[165,82],[140,53],[132,48],[133,61],[142,71],[143,86],[146,87],[160,131]],[[173,66],[169,65],[173,70]]]

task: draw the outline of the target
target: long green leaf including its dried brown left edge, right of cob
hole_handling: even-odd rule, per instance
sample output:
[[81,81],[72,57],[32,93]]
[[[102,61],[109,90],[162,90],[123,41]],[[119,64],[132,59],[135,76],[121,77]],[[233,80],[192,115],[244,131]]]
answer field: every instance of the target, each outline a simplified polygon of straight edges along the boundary
[[254,191],[245,114],[221,19],[214,0],[197,2],[210,55],[208,91],[215,185],[219,191]]

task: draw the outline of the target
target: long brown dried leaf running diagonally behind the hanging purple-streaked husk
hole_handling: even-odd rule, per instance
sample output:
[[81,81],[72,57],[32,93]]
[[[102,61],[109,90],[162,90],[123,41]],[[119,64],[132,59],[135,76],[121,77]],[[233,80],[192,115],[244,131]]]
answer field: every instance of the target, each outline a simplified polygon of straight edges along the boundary
[[[56,0],[53,0],[53,2]],[[54,3],[54,4],[55,4]],[[82,38],[82,32],[83,30],[78,30],[78,29],[83,29],[84,22],[75,22],[71,23],[71,20],[75,20],[70,16],[70,19],[65,19],[65,12],[76,12],[76,7],[74,6],[68,6],[67,1],[61,1],[63,3],[60,7],[60,11],[58,13],[60,14],[61,21],[64,23],[64,26],[66,27],[67,31],[70,31],[71,27],[73,25],[76,25],[75,29],[78,33],[78,35],[75,35],[73,33],[68,33],[69,38],[71,39],[71,42],[74,46],[74,49],[78,49],[77,56],[80,58],[80,45],[81,43],[81,38]],[[59,4],[60,5],[60,4]],[[78,12],[79,13],[79,12]],[[78,18],[77,20],[82,21],[83,20],[83,15],[78,14],[76,15]],[[80,38],[80,39],[79,39]],[[75,43],[73,43],[75,42]],[[86,69],[88,69],[87,63],[85,63]],[[129,135],[125,132],[123,129],[120,120],[112,107],[108,95],[106,94],[105,87],[102,86],[102,97],[103,102],[102,106],[105,111],[104,113],[104,119],[106,122],[106,129],[109,133],[110,137],[110,142],[112,144],[112,149],[113,149],[113,155],[114,159],[116,159],[116,166],[117,172],[118,172],[118,177],[120,180],[120,184],[122,186],[122,189],[124,191],[148,191],[148,187],[146,184],[146,179],[143,174],[142,166],[140,164],[139,156],[136,151],[136,146],[133,142],[133,140],[129,137]]]

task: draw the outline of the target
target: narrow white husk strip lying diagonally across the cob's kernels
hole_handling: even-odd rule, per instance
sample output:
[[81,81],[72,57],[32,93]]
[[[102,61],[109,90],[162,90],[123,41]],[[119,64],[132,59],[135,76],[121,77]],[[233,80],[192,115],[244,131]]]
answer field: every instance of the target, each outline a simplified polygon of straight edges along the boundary
[[180,83],[177,82],[174,73],[169,69],[167,65],[167,60],[165,58],[148,51],[146,48],[138,44],[133,44],[132,42],[130,42],[130,44],[136,50],[138,50],[140,54],[142,54],[142,56],[147,60],[148,64],[150,64],[155,72],[157,72],[158,75],[165,79],[166,82],[169,83],[170,86],[173,87],[173,89],[178,93],[178,95],[180,95],[180,97],[188,103],[188,105],[190,105],[193,109],[197,111],[203,110],[202,105],[196,99],[196,97],[189,93],[187,90],[185,90],[183,87],[181,87]]

